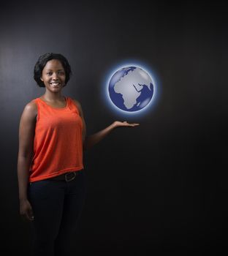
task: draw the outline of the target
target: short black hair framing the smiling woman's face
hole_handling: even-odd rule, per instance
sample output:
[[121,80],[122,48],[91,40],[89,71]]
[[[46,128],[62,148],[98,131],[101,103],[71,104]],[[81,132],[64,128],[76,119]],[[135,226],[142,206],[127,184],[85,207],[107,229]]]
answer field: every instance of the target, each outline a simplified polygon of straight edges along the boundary
[[52,59],[58,59],[58,61],[61,61],[61,64],[64,67],[65,74],[66,74],[66,80],[65,80],[64,86],[66,86],[66,83],[69,81],[69,78],[72,75],[72,70],[69,65],[69,62],[63,55],[61,55],[60,53],[45,53],[42,56],[39,56],[39,59],[37,60],[37,63],[35,64],[35,67],[34,67],[34,80],[37,82],[37,85],[39,87],[45,87],[44,82],[40,78],[42,77],[42,70],[47,64],[47,61],[50,61]]

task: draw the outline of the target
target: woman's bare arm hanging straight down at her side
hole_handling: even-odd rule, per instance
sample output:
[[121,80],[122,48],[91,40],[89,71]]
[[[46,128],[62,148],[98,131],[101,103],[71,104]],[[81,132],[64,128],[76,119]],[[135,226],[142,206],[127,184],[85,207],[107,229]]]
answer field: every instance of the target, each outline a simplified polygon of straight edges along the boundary
[[28,220],[33,220],[31,204],[28,202],[28,175],[33,157],[34,133],[37,118],[37,105],[29,102],[23,110],[19,125],[18,151],[18,189],[20,200],[20,214]]

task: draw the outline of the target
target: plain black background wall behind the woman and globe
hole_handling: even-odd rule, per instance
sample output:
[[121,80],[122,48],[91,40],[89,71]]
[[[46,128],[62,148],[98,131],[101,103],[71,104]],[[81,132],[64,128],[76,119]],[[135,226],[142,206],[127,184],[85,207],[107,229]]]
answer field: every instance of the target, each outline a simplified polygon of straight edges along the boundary
[[[18,124],[44,93],[43,53],[62,53],[63,91],[83,106],[88,134],[116,129],[86,151],[88,194],[75,255],[202,255],[227,250],[227,7],[164,1],[7,1],[0,10],[1,250],[28,254],[18,208]],[[104,74],[128,59],[155,70],[151,111],[107,108]],[[124,118],[124,119],[123,119]]]

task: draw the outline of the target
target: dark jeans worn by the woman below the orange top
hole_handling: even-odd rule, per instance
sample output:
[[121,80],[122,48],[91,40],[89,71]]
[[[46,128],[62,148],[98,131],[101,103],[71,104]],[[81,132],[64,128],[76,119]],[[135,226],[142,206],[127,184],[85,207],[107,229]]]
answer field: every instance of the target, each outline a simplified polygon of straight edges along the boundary
[[34,211],[34,256],[68,256],[75,228],[86,196],[86,176],[74,180],[43,180],[28,186],[28,200]]

